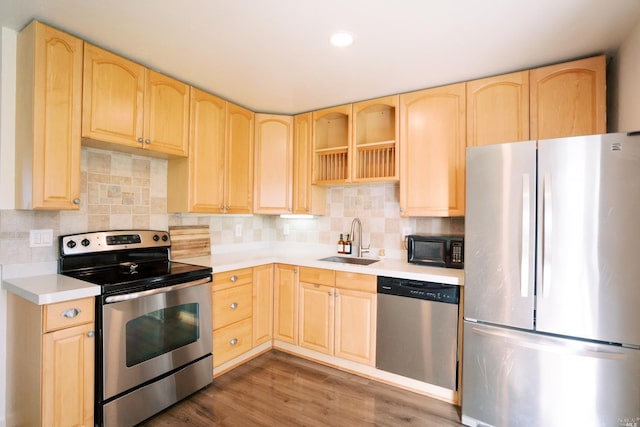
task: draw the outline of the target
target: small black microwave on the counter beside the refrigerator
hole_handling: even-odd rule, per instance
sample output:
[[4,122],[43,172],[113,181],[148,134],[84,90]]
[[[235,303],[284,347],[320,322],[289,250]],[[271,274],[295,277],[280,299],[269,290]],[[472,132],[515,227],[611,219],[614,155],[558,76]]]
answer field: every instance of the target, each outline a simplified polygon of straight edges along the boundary
[[409,235],[407,261],[431,267],[464,268],[464,237]]

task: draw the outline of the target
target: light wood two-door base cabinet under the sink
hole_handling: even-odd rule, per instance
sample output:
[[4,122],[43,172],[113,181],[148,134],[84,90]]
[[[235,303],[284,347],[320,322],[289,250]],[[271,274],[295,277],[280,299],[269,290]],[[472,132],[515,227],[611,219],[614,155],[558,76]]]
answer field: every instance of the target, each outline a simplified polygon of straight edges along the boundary
[[375,366],[376,276],[300,267],[299,345]]

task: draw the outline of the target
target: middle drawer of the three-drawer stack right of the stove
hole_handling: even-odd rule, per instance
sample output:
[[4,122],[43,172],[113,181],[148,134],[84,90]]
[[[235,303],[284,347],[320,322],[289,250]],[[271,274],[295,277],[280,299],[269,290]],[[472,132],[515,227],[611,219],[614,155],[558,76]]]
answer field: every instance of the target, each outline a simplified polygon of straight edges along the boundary
[[213,291],[213,329],[250,318],[253,313],[253,286],[234,286]]

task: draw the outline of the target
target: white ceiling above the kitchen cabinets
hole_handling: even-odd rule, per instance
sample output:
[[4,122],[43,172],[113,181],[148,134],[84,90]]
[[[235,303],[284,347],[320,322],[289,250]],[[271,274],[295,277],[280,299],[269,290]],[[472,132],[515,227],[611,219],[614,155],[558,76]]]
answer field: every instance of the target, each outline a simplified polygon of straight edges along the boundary
[[[257,112],[294,114],[615,53],[640,0],[0,0]],[[354,35],[334,48],[332,32]]]

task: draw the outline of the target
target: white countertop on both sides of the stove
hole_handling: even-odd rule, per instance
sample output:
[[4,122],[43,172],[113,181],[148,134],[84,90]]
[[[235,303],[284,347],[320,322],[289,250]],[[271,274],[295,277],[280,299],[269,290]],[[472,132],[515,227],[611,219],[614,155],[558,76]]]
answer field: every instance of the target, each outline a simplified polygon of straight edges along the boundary
[[[464,271],[450,268],[424,267],[409,264],[405,260],[380,259],[370,265],[343,264],[319,261],[320,258],[337,255],[326,250],[309,247],[251,248],[248,250],[218,251],[210,256],[185,258],[175,261],[212,267],[214,273],[256,267],[264,264],[282,263],[303,267],[326,268],[375,276],[391,276],[402,279],[464,285]],[[26,271],[35,272],[29,276]],[[100,294],[100,286],[68,276],[55,274],[55,263],[39,264],[34,268],[28,264],[3,266],[2,287],[34,304],[51,304]]]

